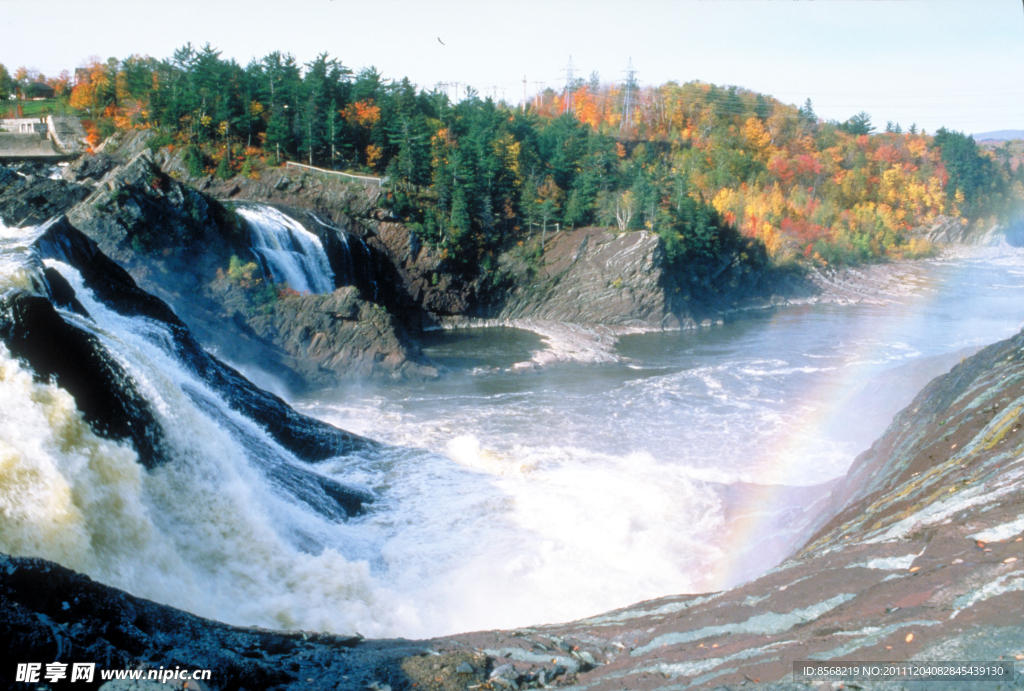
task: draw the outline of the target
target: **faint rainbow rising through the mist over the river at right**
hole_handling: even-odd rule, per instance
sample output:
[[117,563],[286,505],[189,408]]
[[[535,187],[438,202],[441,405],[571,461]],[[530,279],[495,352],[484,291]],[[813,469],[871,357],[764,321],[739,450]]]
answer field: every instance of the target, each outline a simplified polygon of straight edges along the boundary
[[[1019,252],[1014,252],[1011,256],[1015,264],[1022,258]],[[926,330],[935,328],[934,316],[930,316],[929,311],[947,304],[944,301],[949,300],[948,289],[971,280],[972,272],[984,270],[968,261],[943,261],[941,264],[951,269],[943,271],[944,275],[941,276],[936,275],[938,272],[935,270],[935,262],[911,265],[913,272],[910,278],[916,284],[912,294],[890,301],[902,305],[890,304],[885,307],[888,313],[881,318],[881,329],[877,313],[871,319],[864,320],[864,330],[850,339],[856,347],[844,358],[844,362],[838,370],[821,373],[816,378],[816,383],[805,398],[812,402],[807,404],[799,423],[781,429],[771,445],[764,448],[756,463],[757,482],[743,485],[740,491],[733,492],[738,501],[725,509],[725,539],[729,549],[724,551],[725,556],[709,576],[709,582],[714,589],[731,588],[750,579],[756,575],[756,570],[774,565],[766,562],[781,561],[787,556],[785,551],[792,552],[809,537],[797,531],[791,533],[790,537],[799,538],[798,544],[777,544],[775,533],[779,527],[778,519],[786,509],[800,506],[820,515],[822,511],[837,508],[829,507],[828,501],[831,486],[842,478],[839,473],[845,472],[840,468],[841,464],[836,464],[838,472],[833,479],[823,482],[817,479],[820,478],[821,469],[810,465],[822,458],[823,448],[830,447],[833,455],[845,458],[848,465],[852,464],[855,456],[866,450],[870,440],[881,436],[884,428],[888,427],[891,416],[886,415],[887,408],[895,414],[908,404],[928,381],[947,372],[973,349],[1014,333],[1014,330],[1006,328],[1006,320],[1002,319],[1001,327],[989,329],[996,333],[988,336],[987,340],[978,340],[986,339],[986,336],[975,332],[970,339],[975,341],[973,346],[965,342],[963,348],[953,352],[923,356],[912,347],[906,346],[906,354],[901,358],[904,366],[894,370],[893,363],[897,361],[893,357],[895,344],[926,342]],[[1024,289],[1024,283],[1020,288]],[[1011,295],[1008,293],[1007,297],[1010,298]],[[871,329],[869,333],[866,331],[868,322]],[[872,379],[879,384],[877,390],[865,391],[865,384],[869,384]],[[870,393],[896,395],[892,396],[895,400],[890,400],[889,405],[882,401],[881,409],[871,411],[864,407],[877,400],[867,395]],[[849,432],[851,421],[856,420],[854,427],[857,423],[862,423],[859,417],[863,416],[862,412],[865,409],[873,413],[878,423],[874,429],[868,430],[869,438],[863,439],[859,447],[852,442],[836,441],[837,436]],[[843,446],[848,446],[848,449],[844,451]],[[795,500],[800,504],[795,505]],[[804,530],[806,529],[805,527]],[[753,564],[760,564],[762,568],[752,569]]]

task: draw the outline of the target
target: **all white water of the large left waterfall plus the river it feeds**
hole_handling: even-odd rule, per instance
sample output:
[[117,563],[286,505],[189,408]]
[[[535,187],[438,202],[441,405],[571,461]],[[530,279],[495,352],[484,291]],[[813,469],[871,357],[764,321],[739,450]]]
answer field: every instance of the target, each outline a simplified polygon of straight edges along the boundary
[[[31,233],[0,237],[0,286],[30,288]],[[793,547],[822,495],[811,485],[1024,316],[1024,256],[1011,253],[921,264],[920,293],[890,305],[626,337],[629,359],[603,365],[516,372],[536,336],[438,334],[428,350],[454,371],[441,381],[297,402],[393,444],[317,466],[380,498],[341,523],[267,477],[239,430],[297,462],[168,354],[161,325],[48,264],[91,319],[63,316],[137,382],[172,458],[142,470],[0,349],[0,550],[234,623],[370,636],[566,620],[749,577]]]

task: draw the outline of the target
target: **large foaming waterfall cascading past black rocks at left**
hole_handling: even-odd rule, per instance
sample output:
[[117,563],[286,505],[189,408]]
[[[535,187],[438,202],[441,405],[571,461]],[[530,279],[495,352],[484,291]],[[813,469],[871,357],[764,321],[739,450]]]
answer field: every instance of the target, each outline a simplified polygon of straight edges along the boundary
[[299,461],[181,359],[174,325],[117,311],[78,268],[41,261],[38,234],[0,227],[0,296],[43,296],[44,267],[59,273],[77,300],[59,317],[144,396],[163,461],[143,468],[0,343],[0,552],[232,623],[395,631],[374,551],[334,501],[338,471],[358,476],[367,460],[337,459],[333,477]]

